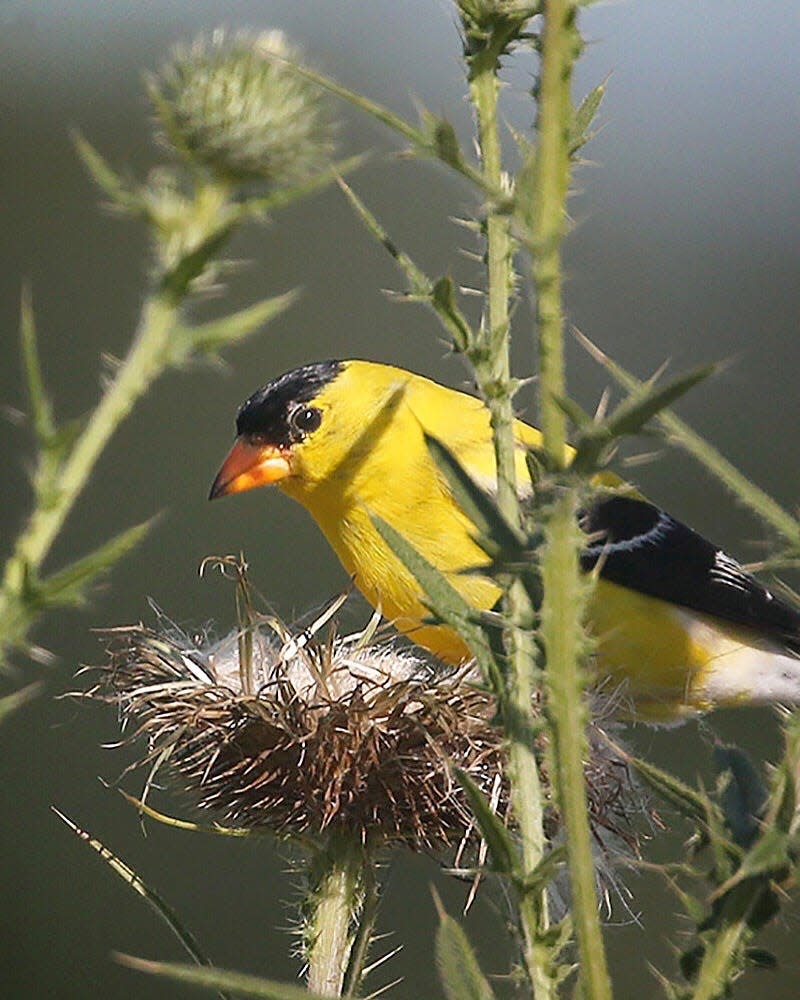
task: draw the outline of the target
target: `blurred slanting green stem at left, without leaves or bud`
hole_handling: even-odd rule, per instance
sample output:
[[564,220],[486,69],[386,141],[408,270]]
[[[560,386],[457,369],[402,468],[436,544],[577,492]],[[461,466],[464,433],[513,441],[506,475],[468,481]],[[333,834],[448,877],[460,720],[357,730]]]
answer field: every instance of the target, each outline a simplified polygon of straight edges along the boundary
[[6,563],[0,622],[4,620],[8,602],[22,591],[26,577],[40,569],[109,439],[166,367],[166,347],[177,314],[177,307],[159,295],[146,303],[127,358],[64,463],[56,495],[50,503],[40,504],[33,511]]

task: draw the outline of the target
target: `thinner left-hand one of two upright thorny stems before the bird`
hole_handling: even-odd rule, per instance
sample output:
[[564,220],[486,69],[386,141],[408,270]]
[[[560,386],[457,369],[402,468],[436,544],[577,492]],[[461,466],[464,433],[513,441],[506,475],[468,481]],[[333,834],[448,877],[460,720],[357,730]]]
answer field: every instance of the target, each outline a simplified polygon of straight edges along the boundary
[[[493,37],[470,64],[470,93],[476,110],[478,142],[487,188],[504,187],[497,120],[500,54],[507,38]],[[507,215],[490,211],[486,219],[487,329],[471,352],[479,389],[491,417],[497,465],[497,504],[511,524],[521,525],[517,495],[514,410],[509,351],[509,298],[513,288],[514,243]],[[509,741],[509,781],[514,814],[519,824],[522,863],[532,872],[545,849],[544,799],[534,752],[533,692],[536,646],[532,638],[535,612],[522,581],[506,588],[509,654],[507,691],[500,700]],[[542,892],[523,891],[520,923],[525,959],[537,1000],[553,996],[549,949],[542,944],[547,928],[547,900]]]

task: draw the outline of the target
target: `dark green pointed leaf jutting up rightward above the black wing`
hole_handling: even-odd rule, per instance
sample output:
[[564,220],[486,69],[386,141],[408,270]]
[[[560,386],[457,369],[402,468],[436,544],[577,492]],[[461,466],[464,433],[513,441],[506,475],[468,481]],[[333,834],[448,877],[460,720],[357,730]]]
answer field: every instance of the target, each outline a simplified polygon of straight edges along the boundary
[[680,375],[663,386],[642,385],[631,393],[600,423],[581,428],[575,442],[572,468],[576,472],[594,472],[603,451],[618,438],[639,434],[653,417],[671,406],[675,400],[705,381],[716,371],[715,365],[704,365]]

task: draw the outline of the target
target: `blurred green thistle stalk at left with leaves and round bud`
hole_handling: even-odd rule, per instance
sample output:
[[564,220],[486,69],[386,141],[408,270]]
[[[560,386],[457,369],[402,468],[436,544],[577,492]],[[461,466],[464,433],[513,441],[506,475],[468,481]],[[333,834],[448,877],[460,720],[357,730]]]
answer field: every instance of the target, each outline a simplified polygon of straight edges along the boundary
[[208,323],[193,323],[187,315],[187,306],[219,281],[220,255],[234,232],[348,166],[331,164],[331,125],[319,92],[287,66],[269,61],[276,52],[285,56],[290,50],[275,33],[217,33],[177,51],[150,80],[169,162],[141,185],[124,181],[76,136],[78,153],[110,207],[143,223],[150,234],[149,290],[128,353],[96,408],[85,421],[61,425],[42,378],[31,296],[23,295],[22,354],[37,451],[31,512],[0,583],[0,662],[28,650],[40,615],[81,602],[91,581],[151,528],[149,521],[137,525],[61,569],[44,569],[98,458],[138,400],[164,372],[217,355],[293,301],[293,292],[274,295]]

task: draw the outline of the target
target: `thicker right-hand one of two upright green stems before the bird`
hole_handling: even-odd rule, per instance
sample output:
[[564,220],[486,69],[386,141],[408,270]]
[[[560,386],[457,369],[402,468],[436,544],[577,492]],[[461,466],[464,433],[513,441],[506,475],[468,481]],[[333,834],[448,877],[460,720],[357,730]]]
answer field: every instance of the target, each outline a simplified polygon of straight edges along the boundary
[[[545,0],[539,76],[534,215],[531,237],[543,445],[550,464],[566,462],[566,421],[558,405],[565,396],[561,240],[569,185],[568,135],[572,122],[570,81],[580,45],[576,5]],[[542,560],[544,599],[541,635],[546,653],[548,715],[551,722],[555,784],[569,861],[582,996],[611,997],[611,982],[600,930],[591,830],[584,778],[586,754],[585,676],[581,664],[585,584],[581,580],[574,490],[556,500],[548,519]]]

